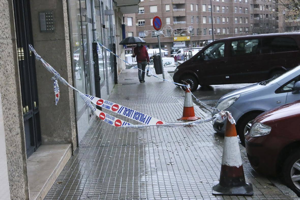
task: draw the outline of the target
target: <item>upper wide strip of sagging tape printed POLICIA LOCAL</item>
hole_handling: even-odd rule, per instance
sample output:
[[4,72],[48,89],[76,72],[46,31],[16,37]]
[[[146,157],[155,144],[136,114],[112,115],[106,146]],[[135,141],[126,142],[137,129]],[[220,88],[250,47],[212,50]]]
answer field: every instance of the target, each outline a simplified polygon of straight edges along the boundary
[[165,124],[165,122],[163,122],[157,118],[151,117],[149,115],[146,115],[146,114],[136,111],[134,109],[127,108],[126,106],[122,106],[120,104],[113,103],[111,101],[101,99],[98,97],[94,97],[94,96],[91,96],[88,94],[85,94],[85,96],[87,96],[90,99],[90,101],[97,106],[101,106],[104,109],[108,109],[119,115],[123,115],[125,117],[131,118],[140,123],[147,124],[147,125],[148,124],[149,125]]

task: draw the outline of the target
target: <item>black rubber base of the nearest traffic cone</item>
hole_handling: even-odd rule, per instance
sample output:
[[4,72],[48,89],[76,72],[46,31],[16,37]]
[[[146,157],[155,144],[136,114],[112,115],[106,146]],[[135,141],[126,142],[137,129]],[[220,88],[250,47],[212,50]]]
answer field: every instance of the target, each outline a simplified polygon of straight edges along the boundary
[[220,185],[219,181],[214,181],[212,187],[213,195],[243,195],[251,196],[253,195],[252,184],[245,183],[245,185],[240,187],[223,187]]

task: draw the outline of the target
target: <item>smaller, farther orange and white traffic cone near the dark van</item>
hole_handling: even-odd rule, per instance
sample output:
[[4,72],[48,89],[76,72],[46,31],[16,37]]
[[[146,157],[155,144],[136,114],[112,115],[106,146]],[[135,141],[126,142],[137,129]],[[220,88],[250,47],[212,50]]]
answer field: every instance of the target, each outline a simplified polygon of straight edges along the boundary
[[182,118],[179,118],[177,120],[195,121],[197,119],[200,119],[199,117],[195,116],[192,95],[190,94],[189,89],[190,85],[187,85],[187,88],[185,89]]

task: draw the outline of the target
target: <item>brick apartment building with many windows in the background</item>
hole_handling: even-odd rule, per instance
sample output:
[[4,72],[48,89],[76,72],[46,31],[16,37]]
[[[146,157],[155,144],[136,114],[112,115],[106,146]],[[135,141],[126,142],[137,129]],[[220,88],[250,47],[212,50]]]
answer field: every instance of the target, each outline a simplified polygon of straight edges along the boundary
[[[160,36],[161,48],[167,50],[166,56],[170,57],[178,49],[205,46],[212,42],[212,30],[216,40],[252,33],[260,20],[274,18],[278,24],[273,10],[275,8],[268,3],[258,0],[141,0],[139,12],[123,15],[123,21],[126,37],[142,37],[149,48],[158,48],[152,19],[154,16],[161,17],[162,27],[170,25],[173,29],[170,37]],[[193,27],[190,33],[180,31],[189,26]]]

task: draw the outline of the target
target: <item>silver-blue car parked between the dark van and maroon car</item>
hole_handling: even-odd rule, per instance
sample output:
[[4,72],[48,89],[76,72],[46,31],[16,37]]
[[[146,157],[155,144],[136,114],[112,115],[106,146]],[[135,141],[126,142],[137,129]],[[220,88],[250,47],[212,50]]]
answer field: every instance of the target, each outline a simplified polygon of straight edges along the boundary
[[[236,130],[244,145],[244,134],[251,127],[251,121],[262,112],[300,100],[300,94],[292,94],[293,86],[300,81],[300,66],[289,70],[281,76],[256,83],[221,97],[217,109],[231,112],[236,122]],[[294,92],[295,93],[295,92]],[[212,115],[217,112],[212,113]],[[214,130],[225,133],[225,124],[215,122]]]

